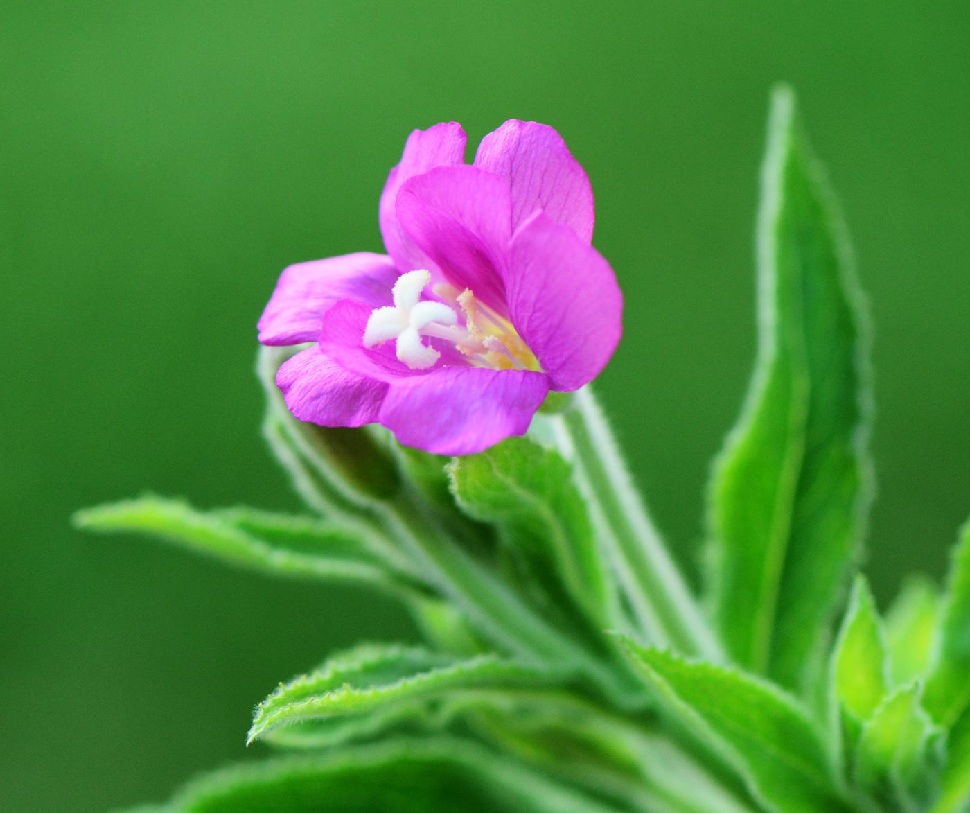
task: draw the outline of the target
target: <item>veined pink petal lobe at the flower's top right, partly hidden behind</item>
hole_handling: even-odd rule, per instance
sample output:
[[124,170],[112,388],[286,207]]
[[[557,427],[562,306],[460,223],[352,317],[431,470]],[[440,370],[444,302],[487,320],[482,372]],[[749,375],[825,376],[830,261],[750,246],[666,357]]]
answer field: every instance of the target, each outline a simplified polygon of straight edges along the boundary
[[552,127],[534,121],[506,121],[482,139],[475,166],[510,182],[512,229],[535,211],[593,240],[593,187],[566,142]]

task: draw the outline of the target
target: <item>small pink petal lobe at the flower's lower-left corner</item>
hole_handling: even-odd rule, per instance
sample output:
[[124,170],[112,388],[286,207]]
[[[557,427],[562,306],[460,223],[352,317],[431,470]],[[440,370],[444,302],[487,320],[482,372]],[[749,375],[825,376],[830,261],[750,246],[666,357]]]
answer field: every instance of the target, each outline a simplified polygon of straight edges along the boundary
[[320,426],[374,423],[387,384],[347,373],[317,346],[301,350],[276,372],[276,386],[290,411]]

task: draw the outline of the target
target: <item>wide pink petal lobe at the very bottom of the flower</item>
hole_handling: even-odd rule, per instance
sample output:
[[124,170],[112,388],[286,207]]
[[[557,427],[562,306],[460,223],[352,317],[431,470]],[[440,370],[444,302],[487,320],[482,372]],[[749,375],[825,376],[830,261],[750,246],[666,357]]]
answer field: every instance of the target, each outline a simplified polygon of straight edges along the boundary
[[549,385],[524,370],[436,368],[392,383],[380,422],[404,445],[433,454],[474,454],[525,435]]

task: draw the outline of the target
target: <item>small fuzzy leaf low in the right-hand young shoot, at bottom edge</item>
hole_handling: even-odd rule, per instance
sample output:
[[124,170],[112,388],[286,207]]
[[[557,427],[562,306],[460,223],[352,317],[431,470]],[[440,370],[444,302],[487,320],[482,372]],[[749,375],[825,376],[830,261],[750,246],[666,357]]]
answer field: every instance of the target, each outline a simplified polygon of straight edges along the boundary
[[919,682],[896,690],[859,735],[854,778],[880,810],[925,810],[937,795],[944,737],[921,694]]

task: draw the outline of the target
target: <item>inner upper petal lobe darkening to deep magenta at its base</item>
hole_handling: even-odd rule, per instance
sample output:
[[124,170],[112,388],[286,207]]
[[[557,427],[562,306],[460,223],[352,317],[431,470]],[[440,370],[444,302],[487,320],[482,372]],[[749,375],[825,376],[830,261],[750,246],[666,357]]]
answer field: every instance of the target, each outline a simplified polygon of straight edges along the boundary
[[440,167],[398,194],[406,235],[459,291],[505,313],[500,267],[511,239],[508,184],[475,167]]

